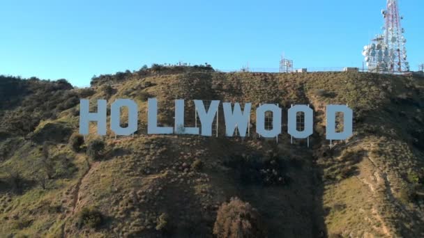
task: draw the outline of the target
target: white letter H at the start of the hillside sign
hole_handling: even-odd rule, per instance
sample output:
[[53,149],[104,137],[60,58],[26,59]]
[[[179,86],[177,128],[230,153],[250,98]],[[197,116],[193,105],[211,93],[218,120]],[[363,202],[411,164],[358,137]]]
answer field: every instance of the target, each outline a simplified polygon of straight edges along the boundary
[[90,113],[90,101],[79,100],[79,134],[89,134],[89,122],[97,122],[97,134],[106,134],[106,100],[97,100],[97,113]]

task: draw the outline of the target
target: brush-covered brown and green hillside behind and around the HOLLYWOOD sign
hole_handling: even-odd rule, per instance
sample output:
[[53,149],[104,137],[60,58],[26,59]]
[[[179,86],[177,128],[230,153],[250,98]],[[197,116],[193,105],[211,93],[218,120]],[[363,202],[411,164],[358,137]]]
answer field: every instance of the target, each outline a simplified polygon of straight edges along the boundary
[[[283,133],[147,135],[147,99],[161,125],[174,100],[278,103]],[[163,68],[65,80],[0,77],[0,237],[214,237],[218,209],[238,197],[268,237],[424,237],[424,79],[357,72],[298,74]],[[79,99],[131,98],[139,131],[81,146]],[[287,109],[310,104],[315,133],[290,143]],[[325,105],[354,110],[354,136],[325,140]],[[126,119],[126,111],[122,113]],[[109,120],[108,120],[109,125]],[[98,154],[93,148],[103,141]]]

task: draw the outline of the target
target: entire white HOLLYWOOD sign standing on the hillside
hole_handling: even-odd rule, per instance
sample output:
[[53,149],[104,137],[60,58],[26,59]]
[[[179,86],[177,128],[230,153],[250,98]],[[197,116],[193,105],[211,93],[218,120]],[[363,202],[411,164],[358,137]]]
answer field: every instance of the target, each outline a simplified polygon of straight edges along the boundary
[[[147,109],[147,134],[191,134],[212,136],[213,120],[218,120],[219,100],[211,101],[209,109],[206,109],[202,100],[193,100],[195,103],[195,113],[199,116],[201,127],[184,126],[184,100],[175,100],[174,127],[158,126],[158,101],[156,98],[149,98]],[[128,108],[128,126],[121,127],[121,108]],[[107,102],[97,100],[97,112],[89,112],[89,100],[80,100],[79,108],[79,133],[89,134],[89,122],[97,122],[97,133],[105,135],[107,131]],[[250,127],[250,112],[252,104],[245,103],[243,111],[238,102],[222,103],[225,118],[225,134],[233,136],[237,128],[239,136],[245,137]],[[272,129],[265,127],[265,113],[272,112]],[[299,131],[296,128],[296,116],[298,112],[304,115],[304,129]],[[335,129],[335,118],[337,113],[343,115],[343,132]],[[326,106],[326,139],[345,140],[352,135],[353,112],[347,105],[327,105]],[[282,132],[282,109],[277,104],[262,104],[256,109],[256,132],[264,138],[275,138]],[[313,111],[308,105],[292,105],[287,110],[287,133],[292,138],[308,138],[313,133]],[[130,99],[118,99],[111,104],[110,109],[110,129],[119,136],[129,136],[137,132],[138,109],[137,104]]]

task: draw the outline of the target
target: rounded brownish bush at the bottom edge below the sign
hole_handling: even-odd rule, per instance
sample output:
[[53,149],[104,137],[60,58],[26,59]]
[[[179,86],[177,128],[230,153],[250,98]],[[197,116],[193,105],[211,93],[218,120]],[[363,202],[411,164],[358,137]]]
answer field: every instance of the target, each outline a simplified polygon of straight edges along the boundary
[[213,234],[218,238],[266,237],[257,210],[239,198],[220,206]]

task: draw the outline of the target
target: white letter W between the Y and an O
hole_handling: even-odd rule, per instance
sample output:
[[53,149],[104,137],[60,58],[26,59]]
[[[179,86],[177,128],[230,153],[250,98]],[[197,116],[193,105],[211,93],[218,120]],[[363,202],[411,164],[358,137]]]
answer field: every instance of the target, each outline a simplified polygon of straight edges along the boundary
[[246,136],[248,130],[249,118],[250,118],[250,107],[251,103],[244,104],[243,113],[241,112],[240,104],[236,102],[234,104],[234,111],[232,111],[231,103],[225,102],[224,106],[224,117],[225,117],[225,134],[227,136],[233,136],[234,129],[239,131],[241,137]]

